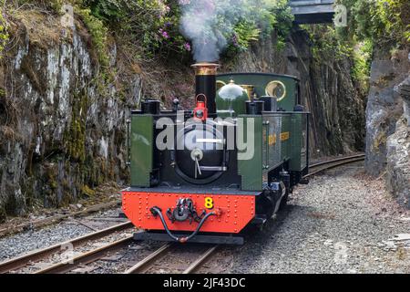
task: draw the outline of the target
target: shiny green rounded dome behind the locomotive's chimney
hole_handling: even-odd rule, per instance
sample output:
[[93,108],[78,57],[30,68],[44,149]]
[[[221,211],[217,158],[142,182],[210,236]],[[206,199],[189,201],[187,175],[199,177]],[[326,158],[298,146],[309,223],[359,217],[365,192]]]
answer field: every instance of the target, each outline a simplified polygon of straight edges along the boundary
[[235,83],[222,87],[217,92],[216,103],[218,116],[221,118],[237,117],[246,114],[246,101],[248,93]]

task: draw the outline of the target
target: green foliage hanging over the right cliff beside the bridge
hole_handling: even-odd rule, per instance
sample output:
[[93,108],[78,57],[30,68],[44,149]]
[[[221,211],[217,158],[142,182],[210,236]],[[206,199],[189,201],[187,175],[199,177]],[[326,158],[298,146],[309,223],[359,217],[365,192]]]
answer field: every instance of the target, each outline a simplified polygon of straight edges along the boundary
[[363,96],[369,88],[374,47],[389,51],[410,44],[408,0],[337,0],[347,8],[347,26],[303,26],[318,60],[353,60],[352,78]]

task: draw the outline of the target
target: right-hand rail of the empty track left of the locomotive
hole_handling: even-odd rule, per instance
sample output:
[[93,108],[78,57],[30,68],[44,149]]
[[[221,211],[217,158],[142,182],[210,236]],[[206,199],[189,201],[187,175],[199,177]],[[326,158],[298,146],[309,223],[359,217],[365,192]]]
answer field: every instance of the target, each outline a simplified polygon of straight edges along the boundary
[[123,248],[125,245],[129,245],[133,242],[133,235],[130,235],[126,238],[120,239],[114,243],[101,246],[97,249],[89,251],[82,255],[77,255],[73,257],[70,261],[64,261],[57,263],[56,265],[47,266],[44,269],[36,271],[33,274],[65,274],[68,273],[77,266],[80,265],[87,265],[97,261],[98,259],[106,256],[108,252],[116,251],[118,249]]

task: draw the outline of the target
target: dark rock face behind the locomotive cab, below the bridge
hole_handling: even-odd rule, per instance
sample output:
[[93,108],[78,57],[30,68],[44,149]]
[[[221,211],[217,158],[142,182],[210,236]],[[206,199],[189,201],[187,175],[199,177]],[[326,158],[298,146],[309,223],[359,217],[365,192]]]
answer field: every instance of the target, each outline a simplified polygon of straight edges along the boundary
[[226,70],[276,72],[301,80],[302,103],[312,112],[313,155],[364,150],[364,100],[351,78],[351,60],[317,59],[309,36],[296,27],[284,51],[276,51],[268,39],[238,59]]

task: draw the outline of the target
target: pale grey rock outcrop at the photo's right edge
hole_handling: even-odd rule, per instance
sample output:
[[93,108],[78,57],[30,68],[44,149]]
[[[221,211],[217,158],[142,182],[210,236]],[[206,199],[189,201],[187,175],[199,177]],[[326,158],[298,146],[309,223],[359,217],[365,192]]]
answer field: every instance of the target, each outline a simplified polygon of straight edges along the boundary
[[386,174],[387,187],[410,207],[410,55],[375,50],[366,111],[366,171]]

